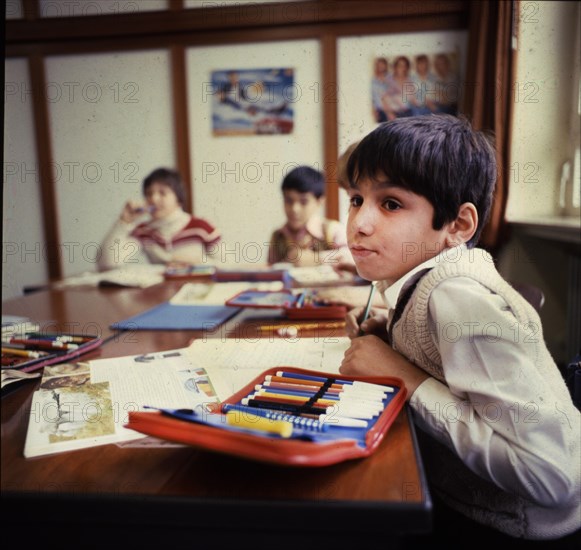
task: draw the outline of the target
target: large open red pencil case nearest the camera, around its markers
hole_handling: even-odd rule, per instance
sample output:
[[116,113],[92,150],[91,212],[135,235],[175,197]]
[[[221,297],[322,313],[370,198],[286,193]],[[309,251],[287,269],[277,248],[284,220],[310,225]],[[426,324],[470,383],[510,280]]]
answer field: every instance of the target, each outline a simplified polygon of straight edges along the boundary
[[[353,428],[339,425],[341,417],[328,416],[324,423],[325,431],[302,430],[299,436],[283,438],[268,434],[233,431],[191,422],[180,417],[183,411],[135,411],[129,412],[125,427],[160,439],[191,445],[217,453],[237,456],[244,459],[274,463],[285,466],[315,467],[336,464],[345,460],[364,458],[371,455],[383,441],[393,421],[404,406],[406,388],[399,378],[394,377],[351,377],[321,373],[295,367],[276,367],[255,378],[247,386],[222,402],[219,407],[223,416],[229,406],[240,406],[243,399],[252,394],[257,384],[262,384],[268,375],[278,371],[300,376],[315,376],[328,381],[364,382],[392,388],[383,400],[381,411],[376,417],[367,420],[366,427]],[[244,409],[247,411],[247,409]],[[265,409],[261,409],[265,411]],[[268,412],[268,411],[267,411]],[[279,411],[280,414],[286,414]],[[177,413],[177,414],[174,414]],[[258,413],[257,413],[258,414]],[[261,414],[264,414],[261,413]],[[276,411],[272,420],[278,418]],[[214,415],[216,416],[216,415]],[[289,418],[297,418],[294,414]],[[319,417],[321,418],[321,417]],[[312,421],[308,416],[300,417],[300,422]],[[320,422],[319,422],[320,424]],[[297,426],[297,424],[293,424]],[[311,434],[306,435],[305,433]]]

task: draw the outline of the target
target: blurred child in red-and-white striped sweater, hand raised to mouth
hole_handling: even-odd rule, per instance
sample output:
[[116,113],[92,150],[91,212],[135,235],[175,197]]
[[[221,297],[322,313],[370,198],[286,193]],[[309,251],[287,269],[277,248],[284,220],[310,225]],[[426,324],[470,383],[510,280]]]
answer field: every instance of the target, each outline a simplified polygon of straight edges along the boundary
[[[215,248],[220,233],[207,221],[183,210],[185,191],[180,175],[158,168],[143,181],[145,203],[128,201],[106,236],[101,270],[146,260],[152,264],[200,264]],[[149,218],[145,218],[149,216]]]

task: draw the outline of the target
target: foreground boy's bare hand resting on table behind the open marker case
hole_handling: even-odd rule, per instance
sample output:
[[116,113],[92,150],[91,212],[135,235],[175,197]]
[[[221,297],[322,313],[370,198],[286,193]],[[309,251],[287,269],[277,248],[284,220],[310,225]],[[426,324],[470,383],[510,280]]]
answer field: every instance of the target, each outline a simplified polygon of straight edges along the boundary
[[339,372],[347,376],[401,378],[408,390],[408,401],[418,386],[430,377],[377,336],[353,339],[345,352]]

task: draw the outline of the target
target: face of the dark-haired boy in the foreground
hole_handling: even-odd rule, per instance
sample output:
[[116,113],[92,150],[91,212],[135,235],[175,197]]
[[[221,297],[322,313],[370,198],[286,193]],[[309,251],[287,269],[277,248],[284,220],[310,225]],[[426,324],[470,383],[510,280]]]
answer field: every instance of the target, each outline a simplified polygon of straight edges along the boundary
[[432,228],[434,207],[425,197],[370,180],[348,193],[347,241],[364,279],[393,284],[446,248],[448,224]]

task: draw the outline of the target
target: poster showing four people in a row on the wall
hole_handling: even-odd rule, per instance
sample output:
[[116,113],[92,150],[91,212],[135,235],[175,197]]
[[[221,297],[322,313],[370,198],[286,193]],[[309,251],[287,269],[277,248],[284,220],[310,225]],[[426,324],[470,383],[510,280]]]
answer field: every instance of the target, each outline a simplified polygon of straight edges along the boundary
[[375,122],[430,113],[458,114],[460,78],[453,52],[390,55],[373,61]]

